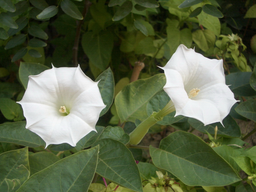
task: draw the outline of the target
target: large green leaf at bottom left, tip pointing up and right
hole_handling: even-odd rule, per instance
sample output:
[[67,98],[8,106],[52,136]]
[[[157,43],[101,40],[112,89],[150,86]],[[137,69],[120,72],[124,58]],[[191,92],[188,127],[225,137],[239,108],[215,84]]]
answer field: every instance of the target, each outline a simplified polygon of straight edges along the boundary
[[99,147],[68,156],[32,175],[17,192],[87,191],[97,166]]

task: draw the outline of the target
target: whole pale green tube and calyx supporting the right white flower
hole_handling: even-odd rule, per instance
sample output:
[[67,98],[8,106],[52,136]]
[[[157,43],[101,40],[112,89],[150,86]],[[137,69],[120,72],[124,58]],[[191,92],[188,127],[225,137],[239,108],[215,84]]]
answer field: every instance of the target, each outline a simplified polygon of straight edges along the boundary
[[158,113],[153,112],[147,119],[142,121],[138,127],[136,127],[130,133],[130,144],[137,145],[143,139],[143,137],[147,134],[149,128],[156,124],[156,122],[163,120],[163,117],[175,111],[174,105],[172,101],[169,101],[167,105]]

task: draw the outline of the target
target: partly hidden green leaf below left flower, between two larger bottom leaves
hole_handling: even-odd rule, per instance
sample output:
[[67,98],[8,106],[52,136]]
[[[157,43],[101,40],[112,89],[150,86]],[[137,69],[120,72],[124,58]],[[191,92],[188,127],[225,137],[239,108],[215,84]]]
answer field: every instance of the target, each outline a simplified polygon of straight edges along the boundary
[[59,161],[60,158],[53,153],[41,151],[28,156],[30,176]]

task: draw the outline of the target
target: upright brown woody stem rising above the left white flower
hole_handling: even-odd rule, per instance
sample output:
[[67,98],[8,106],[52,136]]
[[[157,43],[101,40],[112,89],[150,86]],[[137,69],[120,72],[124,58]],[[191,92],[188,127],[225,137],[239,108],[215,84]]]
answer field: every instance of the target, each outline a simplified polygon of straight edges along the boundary
[[76,37],[75,37],[75,42],[74,42],[74,46],[73,46],[73,64],[74,64],[74,67],[78,66],[77,52],[78,52],[78,44],[79,44],[79,39],[80,39],[81,28],[82,28],[82,25],[84,23],[84,18],[86,16],[91,4],[92,3],[89,0],[85,0],[85,2],[84,2],[84,11],[83,11],[83,14],[82,14],[83,19],[78,22],[77,27],[76,27]]

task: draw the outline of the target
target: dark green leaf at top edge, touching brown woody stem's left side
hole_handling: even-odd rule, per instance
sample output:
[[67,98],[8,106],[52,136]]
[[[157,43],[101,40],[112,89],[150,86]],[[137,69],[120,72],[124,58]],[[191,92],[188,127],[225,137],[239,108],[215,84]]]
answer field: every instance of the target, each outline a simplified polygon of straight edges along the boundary
[[70,17],[73,17],[73,18],[79,19],[79,20],[83,19],[83,15],[80,13],[78,8],[72,1],[62,0],[60,3],[60,7],[61,7],[62,11],[64,11]]

